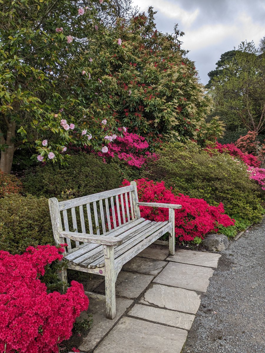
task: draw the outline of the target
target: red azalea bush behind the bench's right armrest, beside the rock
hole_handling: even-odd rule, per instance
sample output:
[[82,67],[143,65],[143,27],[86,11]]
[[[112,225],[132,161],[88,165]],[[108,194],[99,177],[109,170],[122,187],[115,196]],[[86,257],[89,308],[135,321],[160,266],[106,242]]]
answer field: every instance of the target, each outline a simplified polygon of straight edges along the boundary
[[[234,220],[224,214],[223,204],[210,206],[204,199],[191,198],[172,193],[172,188],[166,189],[164,181],[154,183],[153,180],[138,179],[137,191],[140,202],[160,202],[180,204],[182,209],[175,210],[175,235],[179,240],[191,241],[195,237],[203,239],[209,232],[218,232],[218,226],[234,225]],[[123,186],[130,185],[128,180]],[[168,220],[169,211],[166,208],[140,206],[141,216],[151,221]]]

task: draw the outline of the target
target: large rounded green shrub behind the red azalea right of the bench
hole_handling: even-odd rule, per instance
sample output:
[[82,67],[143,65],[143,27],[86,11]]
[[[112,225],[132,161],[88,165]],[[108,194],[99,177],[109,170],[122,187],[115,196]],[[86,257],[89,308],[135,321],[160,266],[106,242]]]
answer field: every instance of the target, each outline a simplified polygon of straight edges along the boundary
[[144,175],[155,181],[164,180],[175,194],[203,198],[215,206],[222,202],[225,213],[237,221],[237,226],[227,230],[230,236],[235,235],[235,228],[260,221],[264,213],[258,187],[249,179],[245,164],[229,155],[214,151],[210,155],[181,144],[177,148],[167,146]]

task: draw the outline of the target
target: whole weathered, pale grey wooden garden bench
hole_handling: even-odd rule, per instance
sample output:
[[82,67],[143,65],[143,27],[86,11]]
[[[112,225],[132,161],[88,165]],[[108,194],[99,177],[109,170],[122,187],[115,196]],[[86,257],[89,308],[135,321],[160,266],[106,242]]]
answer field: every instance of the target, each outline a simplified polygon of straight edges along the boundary
[[[140,205],[169,208],[169,220],[154,222],[141,218]],[[67,268],[105,276],[106,295],[86,293],[106,300],[107,318],[116,316],[115,282],[126,262],[167,232],[169,253],[174,255],[176,208],[181,205],[139,202],[135,181],[119,189],[67,201],[49,199],[55,243],[68,245],[64,253],[69,261]],[[61,271],[60,276],[67,283],[67,270]]]

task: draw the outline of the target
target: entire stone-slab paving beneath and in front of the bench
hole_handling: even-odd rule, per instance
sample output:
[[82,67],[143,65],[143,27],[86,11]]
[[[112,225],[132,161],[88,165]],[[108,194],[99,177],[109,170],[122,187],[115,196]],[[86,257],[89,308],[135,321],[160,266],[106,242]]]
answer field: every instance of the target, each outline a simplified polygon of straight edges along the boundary
[[[167,247],[151,245],[124,265],[116,282],[113,320],[106,319],[104,302],[90,300],[93,327],[80,352],[181,352],[220,255],[181,249],[174,256],[168,253]],[[89,286],[96,293],[105,291],[102,277]]]

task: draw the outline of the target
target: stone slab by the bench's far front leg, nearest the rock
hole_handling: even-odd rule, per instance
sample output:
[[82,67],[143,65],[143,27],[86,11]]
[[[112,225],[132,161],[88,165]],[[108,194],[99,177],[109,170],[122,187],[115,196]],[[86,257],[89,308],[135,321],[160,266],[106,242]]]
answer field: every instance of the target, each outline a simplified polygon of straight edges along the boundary
[[178,249],[174,256],[167,257],[167,261],[217,268],[220,257],[221,255],[211,252]]

